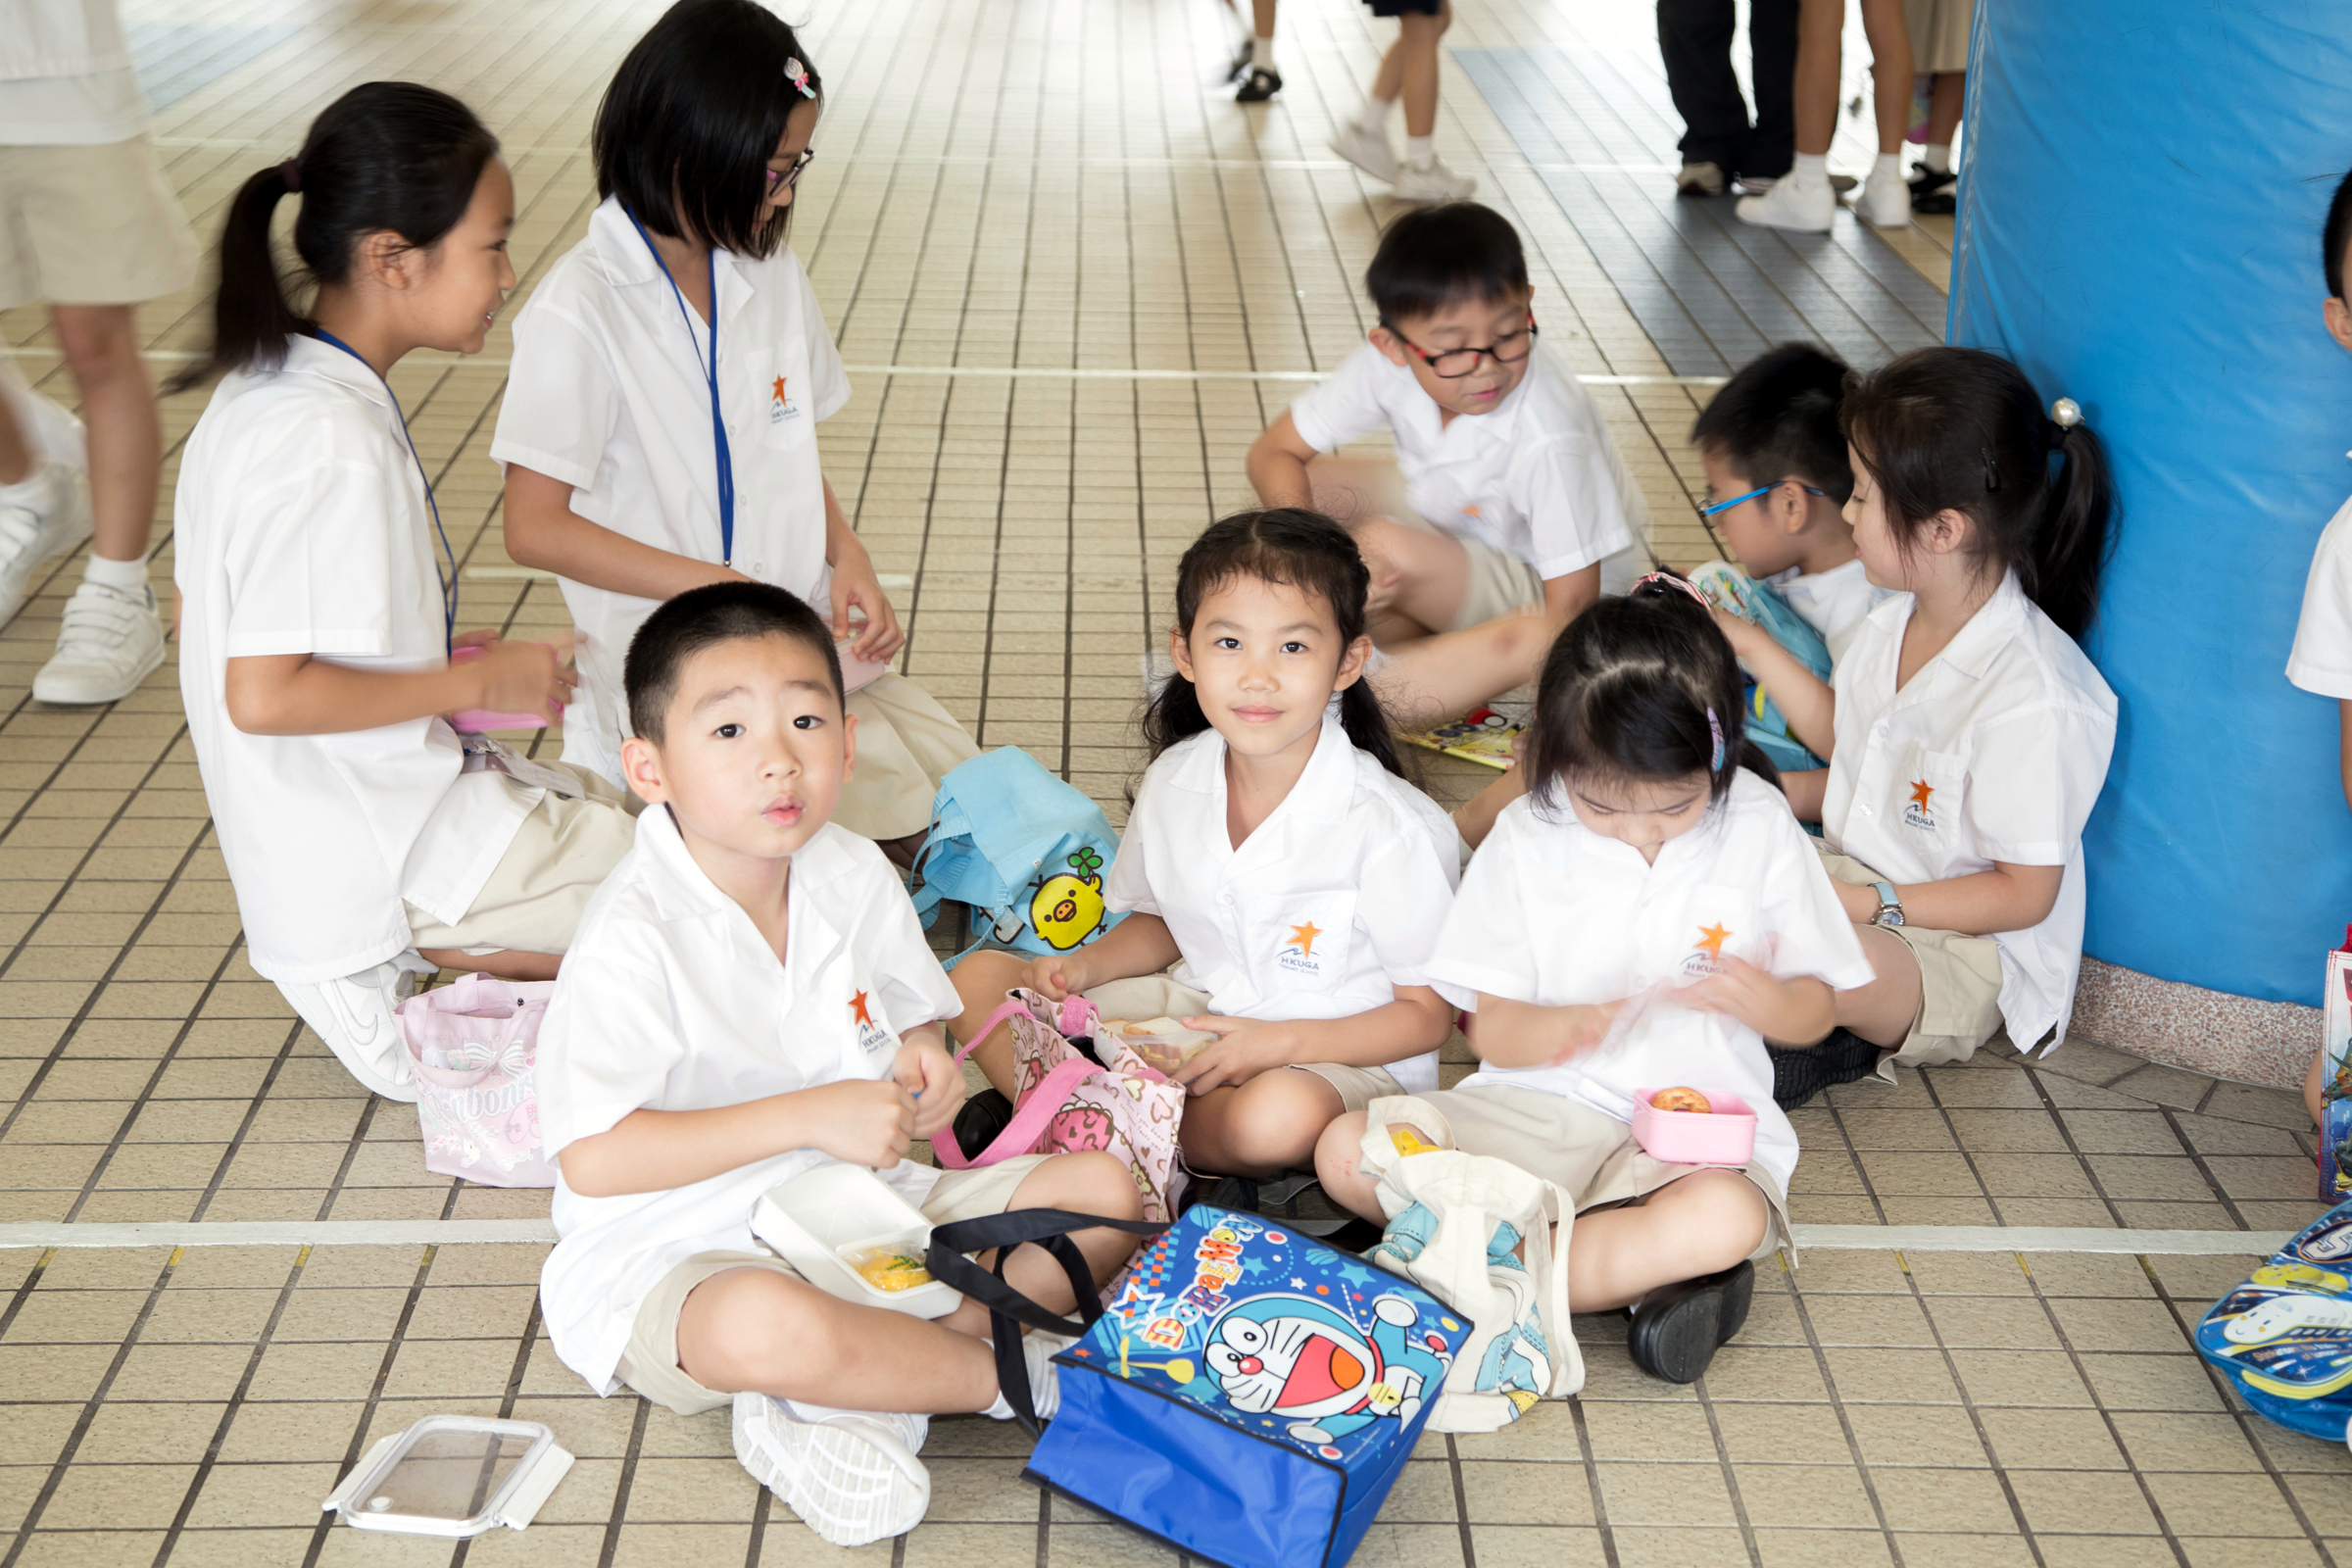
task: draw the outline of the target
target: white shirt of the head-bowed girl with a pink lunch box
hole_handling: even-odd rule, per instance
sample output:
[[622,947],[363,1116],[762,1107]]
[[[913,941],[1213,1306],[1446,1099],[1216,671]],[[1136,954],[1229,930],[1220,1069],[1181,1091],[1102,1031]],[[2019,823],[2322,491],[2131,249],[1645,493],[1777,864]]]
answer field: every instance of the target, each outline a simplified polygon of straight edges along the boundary
[[[1748,769],[1698,827],[1658,846],[1656,865],[1585,827],[1566,804],[1510,802],[1463,872],[1430,976],[1465,1009],[1477,1009],[1477,992],[1569,1006],[1693,985],[1715,973],[1717,952],[1830,990],[1872,978],[1813,839]],[[1618,1121],[1632,1119],[1644,1088],[1729,1091],[1757,1114],[1755,1161],[1780,1192],[1797,1168],[1797,1131],[1771,1100],[1764,1037],[1668,994],[1616,1044],[1557,1067],[1479,1067],[1461,1086],[1475,1084],[1564,1095]]]

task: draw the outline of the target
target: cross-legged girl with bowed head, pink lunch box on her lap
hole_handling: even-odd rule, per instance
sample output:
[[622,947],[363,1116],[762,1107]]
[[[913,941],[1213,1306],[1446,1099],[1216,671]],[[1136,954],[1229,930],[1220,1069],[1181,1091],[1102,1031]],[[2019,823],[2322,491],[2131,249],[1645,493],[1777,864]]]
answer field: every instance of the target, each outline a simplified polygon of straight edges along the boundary
[[[1569,1300],[1632,1307],[1635,1363],[1691,1382],[1748,1316],[1748,1260],[1790,1246],[1797,1133],[1764,1041],[1828,1034],[1832,990],[1870,964],[1743,738],[1738,663],[1686,583],[1644,578],[1562,632],[1522,766],[1529,795],[1470,860],[1428,961],[1475,1009],[1484,1067],[1425,1093],[1442,1126],[1416,1131],[1557,1182],[1578,1213]],[[1677,1084],[1755,1110],[1745,1168],[1632,1140],[1635,1095]],[[1362,1114],[1338,1119],[1315,1168],[1378,1222],[1362,1140]]]

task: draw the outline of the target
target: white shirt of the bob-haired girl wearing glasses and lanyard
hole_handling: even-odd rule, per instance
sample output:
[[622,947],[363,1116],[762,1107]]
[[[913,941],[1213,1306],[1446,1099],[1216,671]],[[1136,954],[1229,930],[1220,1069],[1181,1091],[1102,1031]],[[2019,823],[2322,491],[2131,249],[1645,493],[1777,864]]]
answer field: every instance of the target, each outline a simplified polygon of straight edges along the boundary
[[[717,252],[720,414],[734,458],[734,569],[830,616],[826,484],[816,421],[849,402],[800,256]],[[489,456],[572,487],[572,510],[640,543],[720,559],[717,442],[710,435],[710,334],[682,308],[619,200],[588,219],[515,315],[515,362]],[[564,578],[588,635],[564,715],[564,762],[621,783],[628,712],[621,661],[654,599]]]

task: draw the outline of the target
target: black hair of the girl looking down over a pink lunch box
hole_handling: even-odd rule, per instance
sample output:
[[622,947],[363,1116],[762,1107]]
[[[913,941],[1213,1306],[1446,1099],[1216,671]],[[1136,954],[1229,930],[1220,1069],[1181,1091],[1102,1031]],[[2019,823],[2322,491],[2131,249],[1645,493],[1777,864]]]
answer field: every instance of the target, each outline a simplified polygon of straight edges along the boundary
[[1569,778],[1670,783],[1708,776],[1708,799],[1748,769],[1780,771],[1748,738],[1740,663],[1698,590],[1653,571],[1559,632],[1536,684],[1526,792],[1557,811]]

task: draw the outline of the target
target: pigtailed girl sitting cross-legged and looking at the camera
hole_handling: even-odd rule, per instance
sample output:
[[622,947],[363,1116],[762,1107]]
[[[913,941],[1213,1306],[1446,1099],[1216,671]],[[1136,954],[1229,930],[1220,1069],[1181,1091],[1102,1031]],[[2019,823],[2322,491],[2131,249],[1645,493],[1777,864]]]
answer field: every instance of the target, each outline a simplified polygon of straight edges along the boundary
[[[1364,590],[1355,543],[1317,512],[1242,512],[1192,541],[1176,675],[1143,719],[1152,766],[1103,882],[1131,914],[1077,952],[957,964],[957,1039],[1014,985],[1218,1034],[1176,1077],[1185,1161],[1223,1175],[1303,1166],[1341,1112],[1437,1088],[1454,1016],[1423,961],[1461,851],[1362,684]],[[1009,1027],[974,1060],[1011,1093]]]

